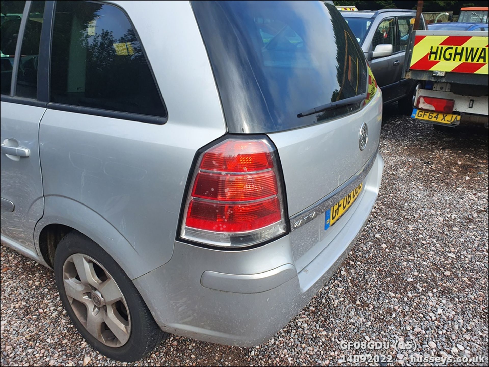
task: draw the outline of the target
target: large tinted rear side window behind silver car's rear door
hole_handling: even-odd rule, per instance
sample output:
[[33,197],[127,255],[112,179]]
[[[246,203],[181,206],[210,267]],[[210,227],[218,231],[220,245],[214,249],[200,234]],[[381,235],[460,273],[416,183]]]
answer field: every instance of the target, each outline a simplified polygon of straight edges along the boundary
[[56,2],[50,101],[166,114],[126,15],[113,5],[88,1]]

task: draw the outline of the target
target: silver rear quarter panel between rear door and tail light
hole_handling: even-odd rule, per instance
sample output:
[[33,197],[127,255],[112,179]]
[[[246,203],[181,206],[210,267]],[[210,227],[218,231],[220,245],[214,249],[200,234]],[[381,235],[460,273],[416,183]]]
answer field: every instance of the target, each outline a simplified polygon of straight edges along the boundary
[[117,4],[139,34],[168,122],[48,108],[40,127],[46,205],[36,233],[56,222],[79,228],[133,279],[172,257],[195,153],[226,128],[190,4]]

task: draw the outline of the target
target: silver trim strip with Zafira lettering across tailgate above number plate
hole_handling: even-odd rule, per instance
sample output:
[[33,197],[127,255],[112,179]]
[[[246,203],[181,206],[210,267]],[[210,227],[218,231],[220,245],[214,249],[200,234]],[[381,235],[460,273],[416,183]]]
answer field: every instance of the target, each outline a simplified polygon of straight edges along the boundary
[[334,203],[338,202],[340,199],[345,197],[345,195],[352,192],[353,189],[355,189],[361,182],[363,182],[367,174],[370,172],[370,169],[374,165],[377,155],[378,147],[374,154],[372,154],[372,156],[369,158],[367,163],[365,163],[357,173],[350,177],[341,186],[333,190],[333,192],[331,192],[330,194],[324,196],[322,199],[319,199],[310,207],[304,209],[302,212],[290,217],[290,232],[302,227],[304,224],[309,223],[315,217],[323,214],[324,212],[326,212],[326,210],[331,208]]

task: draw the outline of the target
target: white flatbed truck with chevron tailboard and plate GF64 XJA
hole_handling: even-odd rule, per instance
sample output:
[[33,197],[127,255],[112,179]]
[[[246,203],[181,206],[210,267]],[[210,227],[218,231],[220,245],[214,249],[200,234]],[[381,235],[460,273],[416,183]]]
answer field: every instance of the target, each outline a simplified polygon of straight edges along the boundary
[[419,81],[411,117],[437,130],[465,122],[488,128],[488,42],[487,31],[414,31],[405,70]]

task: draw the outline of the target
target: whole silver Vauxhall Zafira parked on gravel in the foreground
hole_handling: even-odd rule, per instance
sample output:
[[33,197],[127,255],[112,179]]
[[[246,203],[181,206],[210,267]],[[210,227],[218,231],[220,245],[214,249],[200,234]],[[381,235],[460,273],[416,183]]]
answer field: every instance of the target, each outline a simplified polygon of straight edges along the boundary
[[[331,1],[330,1],[331,2]],[[382,97],[325,1],[1,1],[1,241],[133,361],[259,345],[377,198]]]

